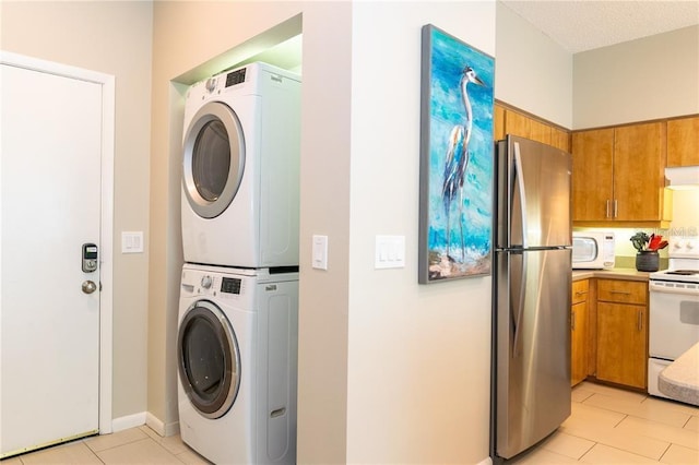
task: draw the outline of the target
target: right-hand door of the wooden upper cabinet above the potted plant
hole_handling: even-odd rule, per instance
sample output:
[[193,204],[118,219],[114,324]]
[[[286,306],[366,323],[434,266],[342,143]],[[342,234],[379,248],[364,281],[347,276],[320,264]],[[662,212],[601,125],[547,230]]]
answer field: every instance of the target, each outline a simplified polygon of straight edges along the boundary
[[624,126],[615,130],[614,196],[616,220],[655,222],[663,212],[665,126]]

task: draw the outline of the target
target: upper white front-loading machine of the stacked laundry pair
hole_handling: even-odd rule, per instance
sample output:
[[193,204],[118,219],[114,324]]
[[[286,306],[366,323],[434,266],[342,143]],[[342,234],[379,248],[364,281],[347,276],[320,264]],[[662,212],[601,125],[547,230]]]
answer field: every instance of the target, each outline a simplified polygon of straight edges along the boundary
[[300,78],[257,62],[192,85],[182,144],[185,261],[298,265]]

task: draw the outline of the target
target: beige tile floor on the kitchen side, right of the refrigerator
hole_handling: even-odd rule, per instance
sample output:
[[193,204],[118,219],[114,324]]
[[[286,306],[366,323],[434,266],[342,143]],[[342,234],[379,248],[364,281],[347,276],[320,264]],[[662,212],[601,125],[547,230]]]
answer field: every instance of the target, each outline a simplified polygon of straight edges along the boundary
[[583,382],[570,417],[517,465],[699,464],[699,408]]

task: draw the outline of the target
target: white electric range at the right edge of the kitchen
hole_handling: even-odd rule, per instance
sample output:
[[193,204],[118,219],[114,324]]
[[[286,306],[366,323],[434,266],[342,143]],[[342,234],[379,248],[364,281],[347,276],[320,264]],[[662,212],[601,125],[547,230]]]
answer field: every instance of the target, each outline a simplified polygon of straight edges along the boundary
[[668,239],[668,269],[650,275],[648,392],[660,372],[699,342],[699,237]]

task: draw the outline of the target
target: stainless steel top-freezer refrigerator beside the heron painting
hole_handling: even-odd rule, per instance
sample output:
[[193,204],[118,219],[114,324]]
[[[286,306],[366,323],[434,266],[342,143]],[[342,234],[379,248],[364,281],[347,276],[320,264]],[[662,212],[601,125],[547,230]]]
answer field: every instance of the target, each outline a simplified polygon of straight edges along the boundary
[[497,143],[490,454],[511,458],[570,415],[571,156]]

